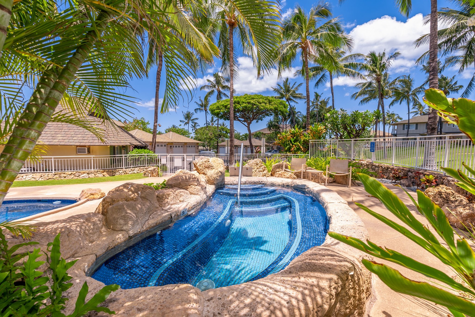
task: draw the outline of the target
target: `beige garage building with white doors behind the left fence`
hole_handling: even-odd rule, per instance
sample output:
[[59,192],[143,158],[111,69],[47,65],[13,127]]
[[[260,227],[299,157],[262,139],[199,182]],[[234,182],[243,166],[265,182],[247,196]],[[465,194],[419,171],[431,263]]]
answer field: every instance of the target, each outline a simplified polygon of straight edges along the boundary
[[[130,133],[152,147],[152,133],[142,130],[132,130]],[[198,154],[199,141],[187,138],[181,134],[169,131],[157,134],[155,153],[157,154]]]

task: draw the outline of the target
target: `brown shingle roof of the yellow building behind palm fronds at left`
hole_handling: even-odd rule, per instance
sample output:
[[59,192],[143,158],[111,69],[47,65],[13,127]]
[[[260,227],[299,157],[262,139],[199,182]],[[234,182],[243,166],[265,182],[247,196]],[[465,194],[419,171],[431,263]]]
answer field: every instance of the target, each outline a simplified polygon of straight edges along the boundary
[[[61,105],[57,106],[56,111],[69,113],[67,110],[63,110]],[[103,130],[104,142],[84,128],[63,122],[49,122],[39,137],[39,141],[46,145],[146,145],[115,124],[115,122],[120,121],[103,121],[93,115],[85,115],[83,117],[91,126]]]

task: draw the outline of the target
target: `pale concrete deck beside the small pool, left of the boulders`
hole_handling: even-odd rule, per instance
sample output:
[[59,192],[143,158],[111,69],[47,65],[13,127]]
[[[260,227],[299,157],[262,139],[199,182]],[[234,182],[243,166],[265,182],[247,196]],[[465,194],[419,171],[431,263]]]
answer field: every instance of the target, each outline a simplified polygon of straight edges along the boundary
[[[121,180],[115,182],[89,183],[89,184],[73,184],[73,185],[54,185],[54,186],[32,186],[32,187],[13,187],[10,188],[6,198],[76,198],[85,188],[100,188],[107,193],[124,183],[161,183],[167,177],[145,177],[132,180]],[[57,219],[65,219],[75,214],[93,213],[102,199],[88,201],[83,205],[58,212],[57,214],[49,214],[31,220],[31,223],[54,221]]]

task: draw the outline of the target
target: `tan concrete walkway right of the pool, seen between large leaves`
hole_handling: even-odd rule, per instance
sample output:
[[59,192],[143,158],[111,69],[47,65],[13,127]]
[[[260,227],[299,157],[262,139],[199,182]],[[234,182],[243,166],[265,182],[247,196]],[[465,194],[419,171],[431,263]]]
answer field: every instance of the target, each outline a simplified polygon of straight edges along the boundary
[[[370,235],[371,242],[378,244],[381,247],[387,247],[389,249],[401,252],[405,255],[412,257],[413,259],[430,265],[438,270],[441,270],[449,276],[454,276],[455,273],[445,264],[440,262],[436,257],[425,251],[416,243],[410,241],[408,238],[390,228],[388,225],[383,224],[364,210],[356,206],[354,202],[361,203],[373,211],[378,212],[386,216],[387,218],[403,224],[399,219],[390,213],[386,207],[380,203],[375,197],[370,197],[364,190],[363,186],[352,186],[348,188],[344,185],[330,184],[329,188],[337,192],[343,199],[345,199],[350,207],[358,214],[363,220],[368,233]],[[424,216],[416,211],[416,207],[407,196],[407,194],[398,186],[387,185],[398,197],[409,206],[409,210],[415,215],[422,224],[428,224],[428,221]],[[416,198],[416,193],[410,193]],[[417,200],[417,198],[416,198]],[[430,227],[430,226],[429,226]],[[432,227],[430,227],[432,229]],[[437,236],[437,233],[436,233]],[[430,281],[425,276],[408,270],[394,264],[389,261],[375,259],[379,263],[389,264],[391,267],[398,269],[401,274],[411,280],[418,281]],[[403,295],[394,292],[388,286],[386,286],[376,275],[373,274],[373,296],[368,303],[367,316],[370,317],[409,317],[409,316],[423,316],[423,317],[447,317],[449,313],[445,308],[425,300],[414,298],[411,296]],[[437,285],[436,285],[437,286]],[[440,286],[439,286],[440,287]],[[450,315],[451,316],[451,315]]]

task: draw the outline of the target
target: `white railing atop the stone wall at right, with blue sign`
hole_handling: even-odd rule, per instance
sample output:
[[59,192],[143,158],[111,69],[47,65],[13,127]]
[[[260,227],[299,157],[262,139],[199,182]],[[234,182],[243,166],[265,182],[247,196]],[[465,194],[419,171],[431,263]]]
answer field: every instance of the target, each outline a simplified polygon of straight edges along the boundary
[[[374,142],[374,151],[371,151]],[[443,172],[455,168],[467,172],[465,162],[475,167],[475,146],[464,134],[377,139],[311,140],[311,158],[336,157],[371,160],[409,168]],[[470,177],[475,175],[468,174]]]

